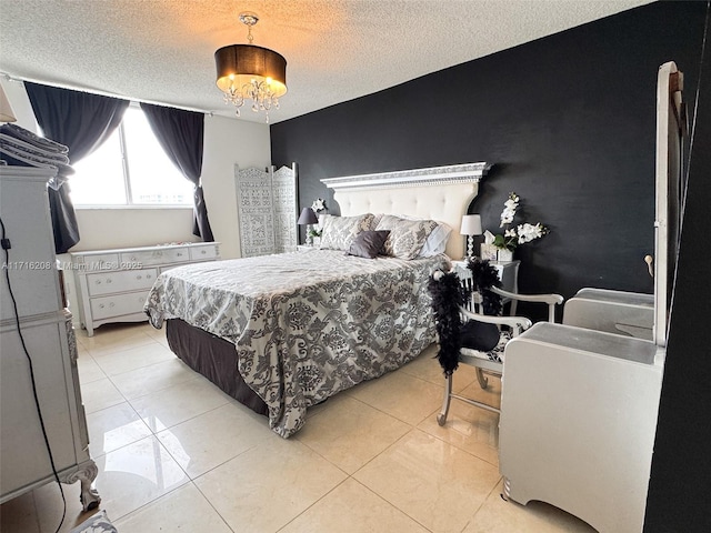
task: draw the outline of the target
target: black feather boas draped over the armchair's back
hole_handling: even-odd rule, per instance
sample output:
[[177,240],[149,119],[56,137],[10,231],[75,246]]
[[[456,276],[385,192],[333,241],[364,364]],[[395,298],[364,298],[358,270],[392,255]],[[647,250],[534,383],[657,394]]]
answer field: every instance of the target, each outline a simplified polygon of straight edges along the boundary
[[[491,286],[501,286],[495,269],[489,261],[478,258],[470,259],[467,266],[472,272],[473,290],[481,293],[484,314],[501,314],[501,296],[489,290]],[[471,293],[462,286],[454,272],[442,271],[437,271],[430,276],[427,290],[432,296],[432,311],[440,339],[437,359],[444,375],[451,375],[459,366],[461,349],[462,320],[459,308],[471,298]]]

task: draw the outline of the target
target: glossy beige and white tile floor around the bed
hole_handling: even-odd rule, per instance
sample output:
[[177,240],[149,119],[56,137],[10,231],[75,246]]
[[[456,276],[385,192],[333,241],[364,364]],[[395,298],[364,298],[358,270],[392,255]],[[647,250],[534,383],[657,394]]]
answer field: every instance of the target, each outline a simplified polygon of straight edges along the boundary
[[[78,332],[79,374],[99,466],[100,509],[121,533],[592,532],[543,503],[501,499],[498,415],[454,401],[435,421],[442,384],[433,350],[310,410],[289,440],[223,394],[147,324]],[[482,391],[473,369],[455,388]],[[63,485],[60,531],[84,521]],[[0,507],[3,533],[53,532],[62,502],[48,484]]]

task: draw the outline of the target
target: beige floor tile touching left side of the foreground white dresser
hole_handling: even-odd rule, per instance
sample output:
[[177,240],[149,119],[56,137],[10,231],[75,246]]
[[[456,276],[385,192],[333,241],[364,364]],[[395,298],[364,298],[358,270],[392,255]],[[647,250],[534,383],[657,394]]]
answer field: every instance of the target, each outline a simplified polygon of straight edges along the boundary
[[491,464],[413,429],[353,477],[432,532],[461,532],[500,480]]

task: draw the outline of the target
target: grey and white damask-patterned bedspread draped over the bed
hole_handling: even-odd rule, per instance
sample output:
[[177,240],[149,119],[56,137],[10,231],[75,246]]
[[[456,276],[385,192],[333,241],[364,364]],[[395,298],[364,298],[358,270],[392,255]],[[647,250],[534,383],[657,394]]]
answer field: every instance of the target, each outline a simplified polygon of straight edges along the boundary
[[314,250],[190,264],[158,278],[146,312],[156,328],[178,318],[232,342],[240,374],[287,438],[308,406],[435,340],[425,285],[448,263]]

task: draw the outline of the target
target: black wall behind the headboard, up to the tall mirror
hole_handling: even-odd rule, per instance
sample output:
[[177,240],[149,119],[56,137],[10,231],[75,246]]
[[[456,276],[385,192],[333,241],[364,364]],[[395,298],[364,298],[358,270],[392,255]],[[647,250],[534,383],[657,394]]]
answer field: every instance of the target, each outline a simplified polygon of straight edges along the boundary
[[704,12],[652,3],[279,122],[273,164],[338,214],[323,178],[494,163],[470,212],[497,230],[515,191],[515,220],[551,229],[515,252],[521,292],[652,292],[657,70],[674,60],[695,91]]

